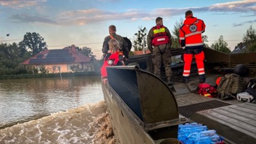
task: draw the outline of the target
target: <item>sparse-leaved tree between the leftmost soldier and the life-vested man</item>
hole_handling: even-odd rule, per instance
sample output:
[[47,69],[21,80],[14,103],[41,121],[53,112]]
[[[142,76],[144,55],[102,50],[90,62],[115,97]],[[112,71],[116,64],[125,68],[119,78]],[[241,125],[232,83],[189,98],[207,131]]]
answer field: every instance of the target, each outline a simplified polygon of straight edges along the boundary
[[136,36],[136,39],[133,41],[134,50],[143,50],[143,47],[147,48],[147,43],[145,42],[145,36],[147,36],[147,29],[140,26],[138,33],[135,33],[134,35]]

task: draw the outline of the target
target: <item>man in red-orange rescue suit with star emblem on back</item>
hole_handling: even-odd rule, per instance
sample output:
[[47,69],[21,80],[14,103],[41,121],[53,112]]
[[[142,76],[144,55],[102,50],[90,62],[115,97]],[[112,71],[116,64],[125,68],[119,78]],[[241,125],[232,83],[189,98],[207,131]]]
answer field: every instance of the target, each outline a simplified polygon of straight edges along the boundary
[[195,55],[195,62],[197,62],[198,74],[200,76],[200,83],[205,82],[204,72],[204,52],[202,33],[205,31],[204,21],[193,17],[192,11],[188,10],[185,13],[186,19],[180,28],[180,44],[184,53],[184,70],[183,82],[189,81],[190,68]]

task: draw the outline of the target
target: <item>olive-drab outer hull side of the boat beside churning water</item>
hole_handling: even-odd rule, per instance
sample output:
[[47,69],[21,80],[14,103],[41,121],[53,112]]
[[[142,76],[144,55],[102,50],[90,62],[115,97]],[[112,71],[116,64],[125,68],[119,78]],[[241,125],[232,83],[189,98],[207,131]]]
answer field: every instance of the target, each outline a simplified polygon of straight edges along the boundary
[[117,143],[155,143],[143,129],[143,122],[124,104],[108,84],[102,84],[104,100]]

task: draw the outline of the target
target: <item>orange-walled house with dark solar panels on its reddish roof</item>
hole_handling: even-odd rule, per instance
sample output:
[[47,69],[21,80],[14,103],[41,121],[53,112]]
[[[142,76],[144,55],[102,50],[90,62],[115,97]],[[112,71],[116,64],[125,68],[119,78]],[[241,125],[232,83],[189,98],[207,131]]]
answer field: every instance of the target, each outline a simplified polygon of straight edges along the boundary
[[[46,50],[28,58],[21,65],[32,65],[40,70],[44,66],[49,73],[72,72],[72,67],[82,70],[94,70],[91,57],[76,51],[75,45],[61,50]],[[40,71],[39,71],[40,72]]]

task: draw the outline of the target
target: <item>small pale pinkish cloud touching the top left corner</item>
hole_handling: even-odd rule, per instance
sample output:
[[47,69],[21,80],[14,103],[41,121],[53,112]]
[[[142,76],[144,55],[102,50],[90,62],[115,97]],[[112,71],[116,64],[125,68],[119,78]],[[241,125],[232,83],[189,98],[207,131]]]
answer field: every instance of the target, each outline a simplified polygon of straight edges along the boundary
[[1,0],[0,5],[9,8],[29,8],[40,3],[44,3],[47,0]]

